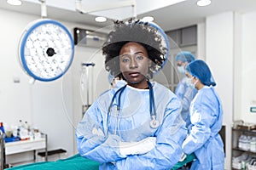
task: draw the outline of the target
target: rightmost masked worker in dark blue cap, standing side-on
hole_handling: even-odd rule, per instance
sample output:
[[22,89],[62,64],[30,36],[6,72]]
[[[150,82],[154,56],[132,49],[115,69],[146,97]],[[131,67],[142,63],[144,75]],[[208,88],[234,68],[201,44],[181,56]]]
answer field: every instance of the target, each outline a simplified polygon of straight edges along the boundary
[[224,170],[224,144],[218,134],[222,127],[223,108],[214,90],[216,82],[207,65],[196,59],[187,65],[191,86],[198,90],[192,100],[189,115],[189,135],[183,142],[183,152],[194,153],[190,170]]

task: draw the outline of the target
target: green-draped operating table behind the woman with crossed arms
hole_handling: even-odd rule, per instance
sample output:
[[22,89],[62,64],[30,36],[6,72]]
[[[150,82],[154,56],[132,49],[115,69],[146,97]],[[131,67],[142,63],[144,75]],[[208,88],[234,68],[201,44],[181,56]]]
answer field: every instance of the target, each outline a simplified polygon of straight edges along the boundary
[[[184,161],[179,161],[172,167],[172,170],[177,170],[179,167],[183,167],[189,161],[193,161],[195,156],[189,155]],[[98,170],[100,163],[97,161],[91,161],[86,159],[79,154],[68,157],[67,159],[61,159],[58,161],[42,161],[31,163],[27,165],[21,165],[18,167],[10,167],[8,170]]]

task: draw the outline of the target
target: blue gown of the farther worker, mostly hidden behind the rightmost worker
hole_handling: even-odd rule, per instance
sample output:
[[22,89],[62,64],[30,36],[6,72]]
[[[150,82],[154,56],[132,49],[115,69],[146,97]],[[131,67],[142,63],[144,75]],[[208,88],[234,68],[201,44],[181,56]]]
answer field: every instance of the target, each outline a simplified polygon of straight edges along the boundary
[[182,81],[177,84],[177,88],[175,90],[175,94],[177,95],[177,98],[180,99],[183,106],[181,115],[183,116],[183,120],[186,122],[186,127],[190,124],[189,106],[197,93],[197,89],[189,86],[188,80],[188,77],[183,77]]

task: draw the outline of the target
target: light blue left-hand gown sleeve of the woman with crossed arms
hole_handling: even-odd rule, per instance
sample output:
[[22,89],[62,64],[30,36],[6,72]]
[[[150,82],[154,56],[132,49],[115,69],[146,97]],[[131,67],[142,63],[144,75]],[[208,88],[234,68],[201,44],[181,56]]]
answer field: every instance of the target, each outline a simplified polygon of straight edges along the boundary
[[[107,105],[109,104],[106,104],[106,106]],[[102,107],[104,107],[104,105],[100,105],[98,100],[96,100],[88,111],[86,111],[76,129],[79,154],[100,163],[124,158],[119,153],[119,142],[121,141],[119,136],[113,134],[107,135],[104,132],[104,114],[102,113],[104,109],[102,109]],[[107,113],[105,113],[105,115],[107,115]]]

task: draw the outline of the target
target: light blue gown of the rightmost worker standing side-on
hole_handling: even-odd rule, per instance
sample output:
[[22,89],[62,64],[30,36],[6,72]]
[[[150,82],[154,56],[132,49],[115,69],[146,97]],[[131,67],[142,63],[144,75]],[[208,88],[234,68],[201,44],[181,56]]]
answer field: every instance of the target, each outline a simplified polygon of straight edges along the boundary
[[212,87],[198,91],[190,109],[189,136],[183,142],[185,154],[195,153],[190,170],[223,170],[224,144],[218,134],[222,127],[223,110],[218,94]]

